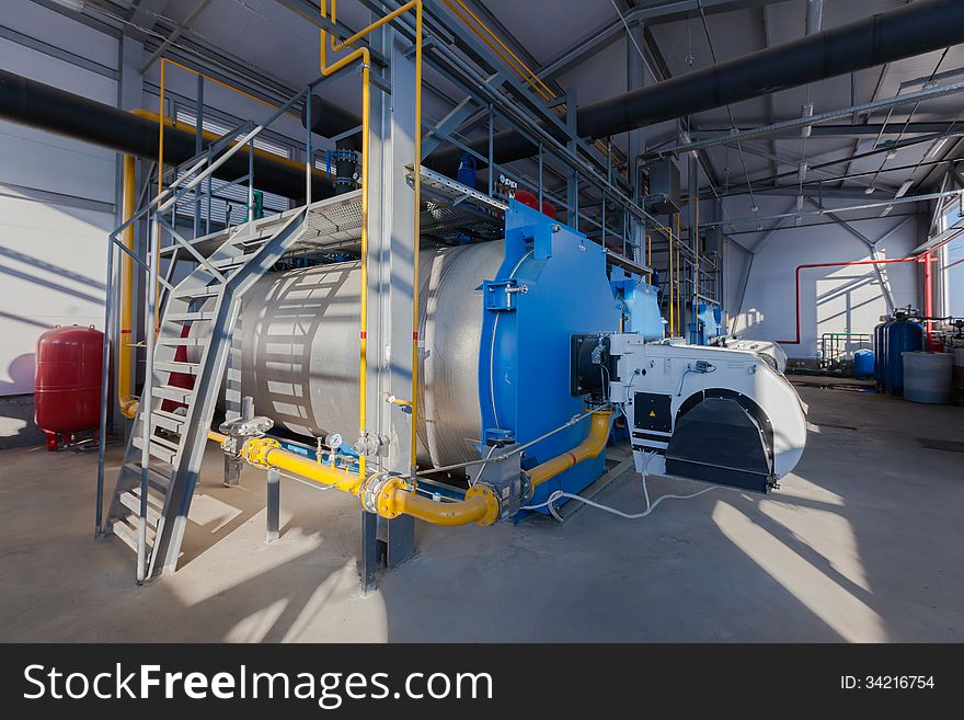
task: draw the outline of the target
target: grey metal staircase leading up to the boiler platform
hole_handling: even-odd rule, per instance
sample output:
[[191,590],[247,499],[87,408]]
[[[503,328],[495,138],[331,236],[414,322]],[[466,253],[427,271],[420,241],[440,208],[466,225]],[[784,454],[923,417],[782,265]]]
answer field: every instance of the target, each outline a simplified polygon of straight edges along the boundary
[[[232,228],[169,294],[105,525],[137,552],[138,581],[177,564],[241,299],[305,235],[307,214],[285,214],[269,233],[253,222]],[[190,362],[177,355],[185,346]],[[173,374],[193,387],[172,384]]]

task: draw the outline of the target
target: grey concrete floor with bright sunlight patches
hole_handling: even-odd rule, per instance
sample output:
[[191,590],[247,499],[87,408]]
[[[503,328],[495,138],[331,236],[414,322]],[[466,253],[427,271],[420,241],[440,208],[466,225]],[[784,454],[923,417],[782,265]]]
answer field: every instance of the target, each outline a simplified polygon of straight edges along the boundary
[[[964,408],[800,387],[811,433],[767,496],[713,490],[626,521],[584,508],[493,528],[418,528],[418,555],[363,596],[359,506],[264,473],[219,484],[211,453],[181,569],[138,587],[93,537],[96,457],[0,453],[0,641],[961,641]],[[116,469],[118,452],[111,454]],[[651,478],[650,494],[700,485]],[[639,511],[632,471],[597,500]]]

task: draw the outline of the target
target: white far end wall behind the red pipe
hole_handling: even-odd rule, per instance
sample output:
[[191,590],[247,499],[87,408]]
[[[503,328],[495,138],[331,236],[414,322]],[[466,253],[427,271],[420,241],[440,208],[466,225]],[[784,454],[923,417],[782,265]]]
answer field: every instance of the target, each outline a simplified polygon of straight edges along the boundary
[[[793,198],[781,198],[791,202]],[[899,206],[898,206],[899,207]],[[760,215],[785,210],[779,202],[760,202]],[[903,212],[909,207],[904,206]],[[731,213],[732,217],[745,209]],[[862,215],[867,215],[862,213]],[[851,217],[853,214],[851,214]],[[829,218],[810,218],[827,221]],[[876,240],[894,228],[903,217],[874,218],[854,222],[861,233]],[[867,245],[845,228],[835,225],[790,227],[778,230],[762,245],[753,261],[746,294],[738,315],[735,332],[744,338],[760,340],[795,340],[795,272],[796,266],[813,263],[852,262],[870,260]],[[762,236],[743,236],[749,247]],[[880,256],[904,258],[919,243],[916,218],[911,218],[891,237],[877,244]],[[731,308],[735,310],[745,263],[732,255],[738,267],[732,267]],[[908,304],[917,307],[918,271],[916,263],[882,266],[897,307]],[[881,284],[873,266],[818,267],[801,272],[800,282],[800,344],[785,345],[791,357],[816,357],[819,336],[827,332],[872,334],[880,317],[888,311]]]

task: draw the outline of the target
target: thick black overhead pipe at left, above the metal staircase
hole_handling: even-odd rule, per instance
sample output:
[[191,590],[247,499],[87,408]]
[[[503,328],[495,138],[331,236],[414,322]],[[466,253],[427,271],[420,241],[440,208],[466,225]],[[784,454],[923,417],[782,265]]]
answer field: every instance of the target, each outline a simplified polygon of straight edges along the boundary
[[[138,117],[5,70],[0,70],[0,118],[147,160],[158,158],[156,119]],[[164,129],[165,163],[183,162],[194,153],[193,128]],[[246,175],[248,148],[239,150],[216,174],[227,180]],[[305,165],[255,152],[254,182],[260,190],[285,197],[303,197]],[[321,199],[331,197],[334,191],[321,173],[314,173],[311,193],[314,199]]]

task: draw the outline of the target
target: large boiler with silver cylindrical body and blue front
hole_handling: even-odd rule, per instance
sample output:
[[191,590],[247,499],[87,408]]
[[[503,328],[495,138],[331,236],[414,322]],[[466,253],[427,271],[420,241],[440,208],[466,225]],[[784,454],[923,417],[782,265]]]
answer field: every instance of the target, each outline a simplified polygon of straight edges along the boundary
[[[475,460],[493,437],[542,438],[585,412],[571,389],[571,339],[620,328],[602,248],[510,205],[505,240],[420,255],[423,467]],[[259,414],[300,435],[357,437],[359,292],[360,267],[349,262],[272,274],[245,295],[241,387]],[[369,368],[409,352],[369,340]],[[539,439],[524,467],[565,453],[587,432],[576,423]],[[540,485],[533,502],[558,489],[578,492],[604,462],[600,455],[571,468]]]

